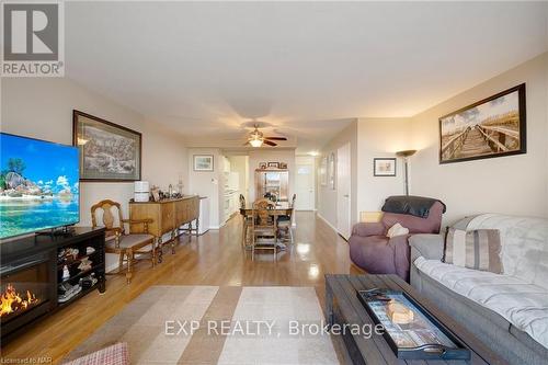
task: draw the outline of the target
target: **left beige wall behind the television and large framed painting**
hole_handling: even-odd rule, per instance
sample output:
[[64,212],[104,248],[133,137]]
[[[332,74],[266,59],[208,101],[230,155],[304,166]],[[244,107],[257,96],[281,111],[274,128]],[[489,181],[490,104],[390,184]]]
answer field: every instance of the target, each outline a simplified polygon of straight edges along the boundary
[[[186,148],[176,134],[68,78],[2,79],[1,130],[15,135],[72,144],[72,110],[79,110],[142,134],[142,180],[167,190],[187,180]],[[80,225],[91,225],[90,208],[111,198],[123,204],[133,197],[133,183],[81,183]]]

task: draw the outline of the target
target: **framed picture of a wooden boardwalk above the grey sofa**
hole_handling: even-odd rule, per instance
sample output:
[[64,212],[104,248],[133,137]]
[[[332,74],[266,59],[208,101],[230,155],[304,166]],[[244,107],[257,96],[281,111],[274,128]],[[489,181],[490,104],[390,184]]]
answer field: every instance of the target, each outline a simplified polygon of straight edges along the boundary
[[439,163],[527,152],[525,83],[439,118]]

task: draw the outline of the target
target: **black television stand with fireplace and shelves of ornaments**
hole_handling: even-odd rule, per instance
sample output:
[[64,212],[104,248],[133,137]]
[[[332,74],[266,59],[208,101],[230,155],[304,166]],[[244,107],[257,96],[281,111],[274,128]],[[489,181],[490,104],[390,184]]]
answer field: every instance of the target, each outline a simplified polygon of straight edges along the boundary
[[0,293],[32,293],[27,306],[2,318],[5,343],[28,327],[94,292],[105,292],[105,229],[66,227],[0,244]]

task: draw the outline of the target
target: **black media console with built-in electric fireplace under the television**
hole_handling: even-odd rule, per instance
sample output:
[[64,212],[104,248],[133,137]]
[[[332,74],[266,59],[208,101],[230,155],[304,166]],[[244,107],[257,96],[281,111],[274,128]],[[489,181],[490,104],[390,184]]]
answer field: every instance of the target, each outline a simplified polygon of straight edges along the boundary
[[[69,306],[78,298],[99,289],[105,290],[104,228],[75,227],[70,231],[39,233],[11,240],[0,239],[0,342],[8,343],[25,333],[39,320]],[[65,251],[93,251],[91,271],[72,273],[62,278],[67,263],[58,260]],[[93,249],[93,250],[91,250]],[[95,277],[91,287],[83,287],[87,275]],[[69,300],[60,300],[60,284],[80,286]],[[67,285],[68,286],[68,285]],[[59,293],[58,293],[59,290]]]

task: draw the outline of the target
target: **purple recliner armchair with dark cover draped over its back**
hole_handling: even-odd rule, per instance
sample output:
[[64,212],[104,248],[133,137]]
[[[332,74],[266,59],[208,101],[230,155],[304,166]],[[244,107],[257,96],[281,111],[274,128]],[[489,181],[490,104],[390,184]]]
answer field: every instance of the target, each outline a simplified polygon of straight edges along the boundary
[[[390,196],[379,223],[359,223],[349,239],[352,262],[369,274],[397,274],[409,282],[408,238],[415,233],[439,233],[445,204],[420,196]],[[399,223],[409,235],[388,238],[388,229]]]

